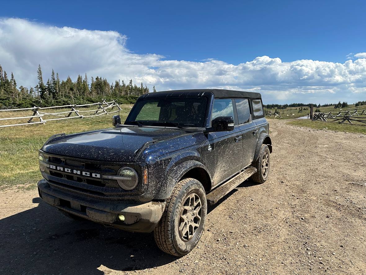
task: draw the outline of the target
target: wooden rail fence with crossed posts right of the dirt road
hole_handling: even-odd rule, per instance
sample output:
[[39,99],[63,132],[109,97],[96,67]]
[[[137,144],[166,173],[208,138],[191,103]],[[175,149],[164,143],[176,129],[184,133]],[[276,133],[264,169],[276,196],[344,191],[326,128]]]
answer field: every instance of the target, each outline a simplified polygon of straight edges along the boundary
[[337,121],[339,123],[361,122],[366,124],[366,110],[339,111],[328,113],[315,113],[313,120]]

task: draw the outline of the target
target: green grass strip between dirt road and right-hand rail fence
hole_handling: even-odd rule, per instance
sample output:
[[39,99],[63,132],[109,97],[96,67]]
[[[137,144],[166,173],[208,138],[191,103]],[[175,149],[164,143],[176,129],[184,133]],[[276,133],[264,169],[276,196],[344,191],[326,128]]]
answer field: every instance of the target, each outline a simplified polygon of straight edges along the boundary
[[309,127],[313,129],[324,129],[337,131],[337,132],[350,132],[350,133],[361,133],[366,135],[366,126],[363,125],[352,125],[338,122],[325,122],[325,121],[312,121],[312,120],[294,120],[289,121],[287,124]]

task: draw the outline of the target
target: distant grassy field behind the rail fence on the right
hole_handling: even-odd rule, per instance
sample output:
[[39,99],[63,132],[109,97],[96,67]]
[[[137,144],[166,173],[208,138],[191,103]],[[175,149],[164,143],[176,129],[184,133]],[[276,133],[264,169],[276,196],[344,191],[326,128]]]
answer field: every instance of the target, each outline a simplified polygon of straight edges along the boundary
[[[288,107],[287,109],[284,109],[284,110],[278,110],[279,113],[280,113],[280,116],[282,118],[276,118],[276,119],[298,118],[298,117],[303,117],[307,114],[310,114],[310,108],[309,107],[305,107],[305,108],[308,108],[308,110],[303,110],[302,113],[298,113],[300,107]],[[316,109],[317,108],[314,107],[314,112],[315,112]],[[366,105],[355,107],[355,105],[352,104],[352,105],[349,105],[346,108],[339,108],[339,109],[334,109],[334,106],[328,106],[328,107],[319,107],[319,109],[322,113],[339,112],[339,111],[347,111],[347,110],[353,111],[355,109],[358,109],[358,110],[366,109]],[[265,111],[272,111],[272,118],[273,118],[273,115],[275,114],[276,109],[264,109],[264,110]]]

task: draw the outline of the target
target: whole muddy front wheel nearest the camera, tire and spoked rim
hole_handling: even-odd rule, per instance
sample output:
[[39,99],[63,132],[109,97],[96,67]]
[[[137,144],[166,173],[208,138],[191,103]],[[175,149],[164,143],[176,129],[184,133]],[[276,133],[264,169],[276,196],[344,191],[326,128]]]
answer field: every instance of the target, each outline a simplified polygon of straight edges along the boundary
[[174,256],[188,254],[201,238],[206,215],[206,193],[202,184],[192,178],[179,181],[154,229],[157,246]]

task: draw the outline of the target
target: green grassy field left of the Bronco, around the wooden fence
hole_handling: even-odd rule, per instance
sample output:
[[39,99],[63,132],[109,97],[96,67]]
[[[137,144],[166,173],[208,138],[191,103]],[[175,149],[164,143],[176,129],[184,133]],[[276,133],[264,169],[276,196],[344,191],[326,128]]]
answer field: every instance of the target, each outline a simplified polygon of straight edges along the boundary
[[[121,121],[127,117],[132,105],[121,105]],[[70,109],[66,109],[70,110]],[[59,110],[58,110],[59,111]],[[61,110],[60,110],[61,111]],[[38,168],[38,149],[57,133],[77,133],[112,127],[112,115],[91,118],[48,121],[46,124],[0,128],[0,189],[16,186],[35,188],[41,178]],[[29,111],[1,112],[1,117],[21,117]],[[4,121],[1,124],[4,125]],[[12,121],[11,124],[26,121]]]

